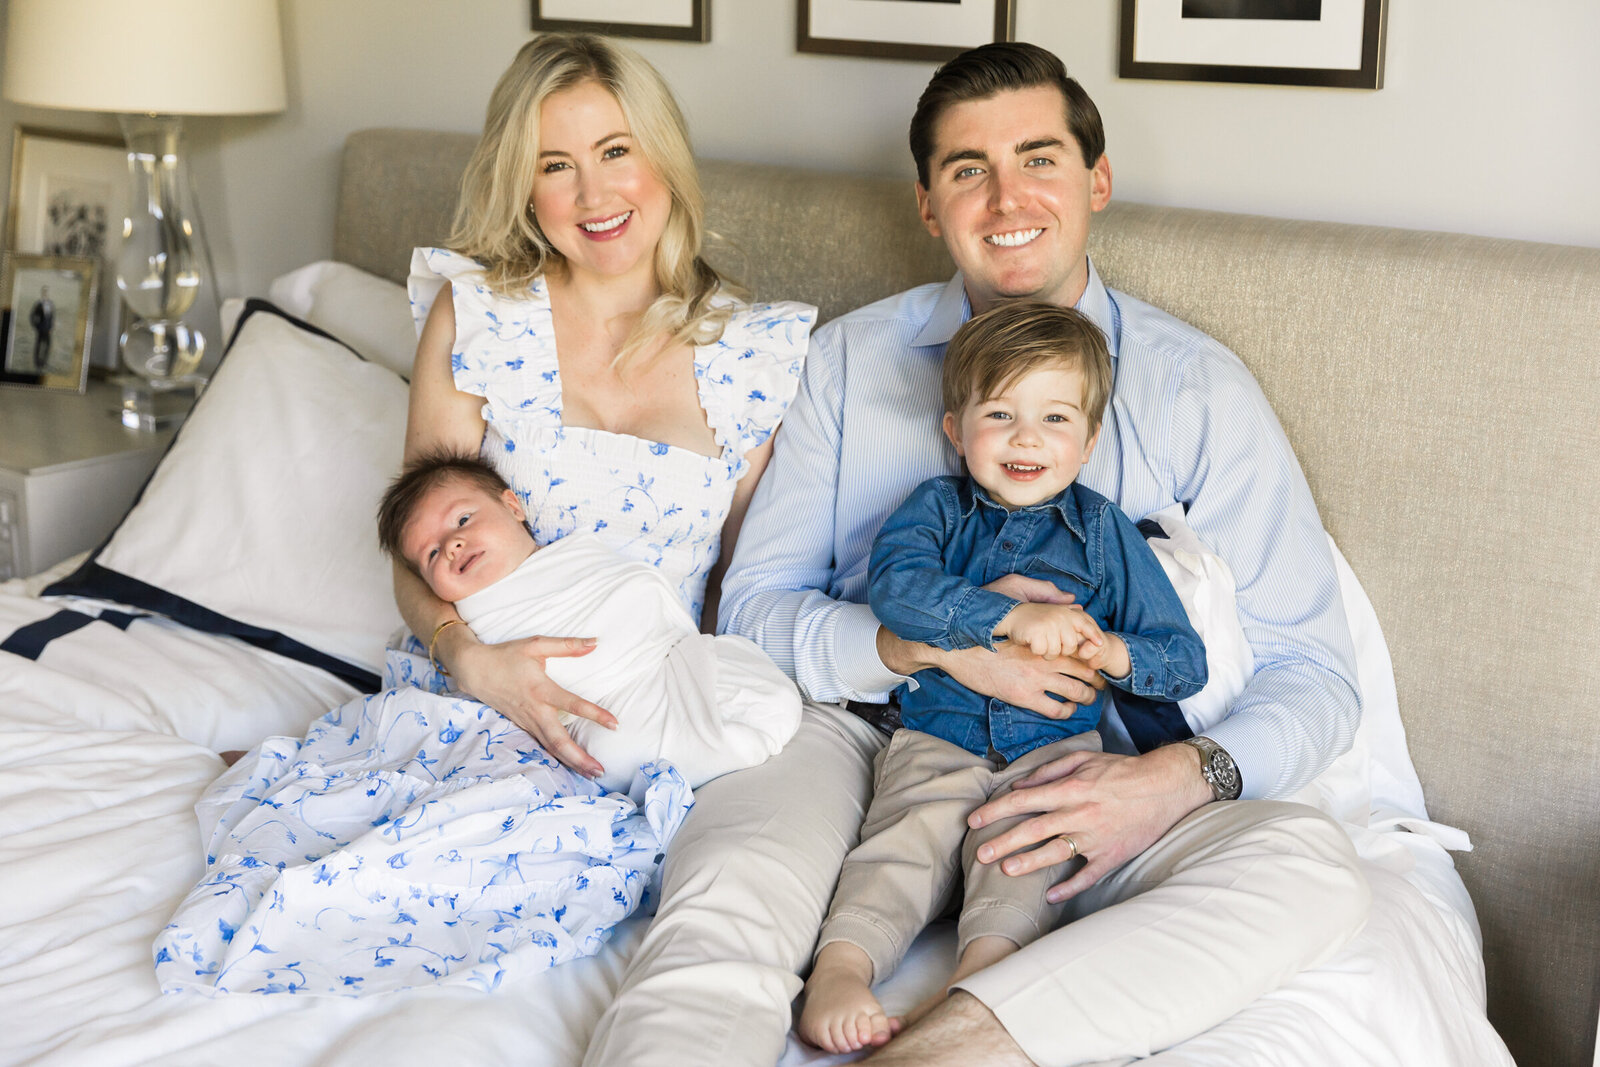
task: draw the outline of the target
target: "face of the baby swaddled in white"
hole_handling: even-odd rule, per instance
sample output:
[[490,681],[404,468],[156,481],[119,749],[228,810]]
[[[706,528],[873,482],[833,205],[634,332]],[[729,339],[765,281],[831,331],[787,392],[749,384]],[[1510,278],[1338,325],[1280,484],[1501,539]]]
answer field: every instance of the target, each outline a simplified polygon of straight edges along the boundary
[[461,478],[429,490],[400,534],[406,561],[451,603],[506,577],[536,547],[515,493],[493,494]]

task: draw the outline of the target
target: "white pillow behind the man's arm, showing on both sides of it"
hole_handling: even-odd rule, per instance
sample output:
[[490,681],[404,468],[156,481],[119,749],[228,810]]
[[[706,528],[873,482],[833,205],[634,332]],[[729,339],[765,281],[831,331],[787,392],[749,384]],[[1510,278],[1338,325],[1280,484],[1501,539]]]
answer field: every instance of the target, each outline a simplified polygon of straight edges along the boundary
[[[1234,573],[1184,523],[1182,506],[1174,504],[1149,517],[1165,536],[1147,541],[1162,569],[1178,590],[1189,622],[1205,641],[1206,686],[1179,707],[1195,733],[1203,733],[1227,715],[1227,709],[1254,673],[1254,656],[1235,606]],[[1384,829],[1403,825],[1427,833],[1446,848],[1467,848],[1466,835],[1427,821],[1422,785],[1406,750],[1400,701],[1395,694],[1389,645],[1378,625],[1366,592],[1350,571],[1339,547],[1328,539],[1339,595],[1355,645],[1357,681],[1362,686],[1362,725],[1350,750],[1318,774],[1290,800],[1307,803],[1355,825]]]

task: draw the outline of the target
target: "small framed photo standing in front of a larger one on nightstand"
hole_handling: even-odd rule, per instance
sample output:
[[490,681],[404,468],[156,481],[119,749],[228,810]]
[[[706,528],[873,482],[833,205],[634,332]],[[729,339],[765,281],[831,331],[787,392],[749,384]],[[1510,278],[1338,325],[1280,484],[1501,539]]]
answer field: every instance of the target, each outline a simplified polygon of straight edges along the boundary
[[99,259],[5,253],[0,386],[83,392],[98,282]]

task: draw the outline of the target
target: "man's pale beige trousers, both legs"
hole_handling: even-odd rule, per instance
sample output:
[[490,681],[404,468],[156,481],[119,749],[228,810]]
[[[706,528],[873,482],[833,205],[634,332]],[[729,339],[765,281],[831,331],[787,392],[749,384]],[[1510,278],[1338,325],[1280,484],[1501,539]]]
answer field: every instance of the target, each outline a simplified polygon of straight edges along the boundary
[[[771,1067],[782,1056],[797,974],[882,745],[850,712],[808,702],[779,755],[699,792],[586,1065]],[[962,987],[1042,1064],[1144,1054],[1333,955],[1366,904],[1349,840],[1320,813],[1208,805],[1077,897],[1075,921]]]

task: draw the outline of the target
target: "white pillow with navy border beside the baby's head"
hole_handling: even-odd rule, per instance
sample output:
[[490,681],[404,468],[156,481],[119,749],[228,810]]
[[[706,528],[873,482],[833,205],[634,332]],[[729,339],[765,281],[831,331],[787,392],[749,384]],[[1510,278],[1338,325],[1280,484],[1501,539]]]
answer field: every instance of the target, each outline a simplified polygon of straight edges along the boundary
[[374,512],[406,386],[251,301],[205,395],[110,537],[46,597],[88,597],[378,688],[400,625]]

